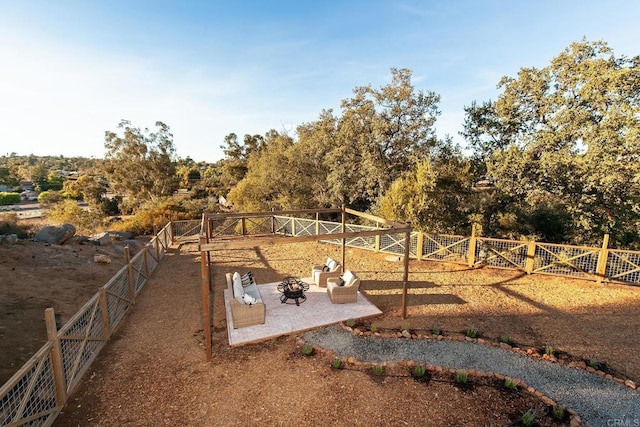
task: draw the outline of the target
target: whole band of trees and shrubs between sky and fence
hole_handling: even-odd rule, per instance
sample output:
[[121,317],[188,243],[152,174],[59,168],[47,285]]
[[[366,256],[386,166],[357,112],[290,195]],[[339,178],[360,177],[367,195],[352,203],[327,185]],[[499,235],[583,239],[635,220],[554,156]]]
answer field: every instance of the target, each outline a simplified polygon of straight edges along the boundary
[[[106,133],[104,159],[3,156],[0,184],[30,179],[58,193],[52,208],[83,199],[98,213],[87,227],[135,214],[121,227],[148,232],[225,196],[242,211],[346,205],[429,232],[573,244],[608,233],[612,246],[640,247],[640,56],[582,40],[503,77],[496,100],[465,107],[464,149],[437,137],[440,96],[411,78],[392,68],[388,84],[354,88],[339,112],[291,135],[230,133],[216,163],[176,158],[162,122],[149,131],[123,121]],[[178,188],[185,197],[172,198]]]

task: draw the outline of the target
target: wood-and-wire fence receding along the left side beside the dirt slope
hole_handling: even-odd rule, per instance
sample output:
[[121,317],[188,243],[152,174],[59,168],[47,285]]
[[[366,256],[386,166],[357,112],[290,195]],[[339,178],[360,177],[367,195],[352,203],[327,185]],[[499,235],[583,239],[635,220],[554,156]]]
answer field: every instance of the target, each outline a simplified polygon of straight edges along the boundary
[[[0,426],[50,426],[68,396],[82,380],[110,334],[122,322],[135,296],[147,283],[177,235],[193,224],[167,224],[102,286],[51,339],[0,388]],[[198,224],[198,231],[200,226]],[[56,365],[56,354],[60,363]],[[56,374],[59,366],[60,375]],[[64,391],[61,392],[60,389]]]

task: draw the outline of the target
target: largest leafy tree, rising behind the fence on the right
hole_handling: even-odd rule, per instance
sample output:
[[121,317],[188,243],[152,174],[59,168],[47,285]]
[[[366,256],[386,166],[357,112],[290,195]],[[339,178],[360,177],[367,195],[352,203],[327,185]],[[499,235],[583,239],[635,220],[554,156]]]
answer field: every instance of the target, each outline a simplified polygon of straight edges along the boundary
[[[487,153],[499,191],[531,211],[542,200],[575,242],[640,230],[640,57],[571,44],[550,65],[504,77],[495,103],[467,109],[463,134]],[[559,211],[557,209],[560,209]]]

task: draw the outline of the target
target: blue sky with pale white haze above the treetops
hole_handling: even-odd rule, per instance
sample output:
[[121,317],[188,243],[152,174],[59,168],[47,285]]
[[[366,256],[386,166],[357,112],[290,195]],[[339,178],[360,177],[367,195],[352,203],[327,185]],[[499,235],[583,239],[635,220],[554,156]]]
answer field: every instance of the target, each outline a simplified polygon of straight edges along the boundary
[[409,68],[441,96],[440,136],[502,76],[571,42],[640,54],[636,1],[0,0],[0,154],[103,157],[121,119],[171,127],[180,157],[235,132],[295,137],[356,86]]

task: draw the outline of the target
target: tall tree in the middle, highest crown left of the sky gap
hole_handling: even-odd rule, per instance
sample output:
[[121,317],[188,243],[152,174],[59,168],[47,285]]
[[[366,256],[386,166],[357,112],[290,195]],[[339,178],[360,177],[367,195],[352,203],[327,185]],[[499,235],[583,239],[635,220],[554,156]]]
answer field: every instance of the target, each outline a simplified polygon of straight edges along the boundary
[[329,189],[336,201],[368,209],[391,183],[438,145],[439,95],[416,91],[411,70],[391,69],[391,83],[356,87],[342,101]]

